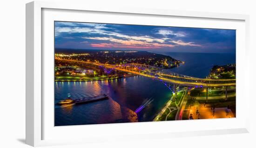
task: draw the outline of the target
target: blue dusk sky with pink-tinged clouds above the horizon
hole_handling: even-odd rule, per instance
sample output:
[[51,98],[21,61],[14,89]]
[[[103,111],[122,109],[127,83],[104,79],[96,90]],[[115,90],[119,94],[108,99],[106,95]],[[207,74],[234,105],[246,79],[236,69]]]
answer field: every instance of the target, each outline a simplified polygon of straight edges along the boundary
[[55,48],[235,53],[236,30],[55,21]]

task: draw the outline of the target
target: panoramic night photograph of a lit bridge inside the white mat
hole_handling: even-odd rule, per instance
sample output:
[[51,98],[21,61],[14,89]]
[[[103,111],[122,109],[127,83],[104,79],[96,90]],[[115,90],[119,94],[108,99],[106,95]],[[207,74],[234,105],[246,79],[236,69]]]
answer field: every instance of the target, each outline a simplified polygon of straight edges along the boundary
[[54,21],[55,126],[236,117],[236,30]]

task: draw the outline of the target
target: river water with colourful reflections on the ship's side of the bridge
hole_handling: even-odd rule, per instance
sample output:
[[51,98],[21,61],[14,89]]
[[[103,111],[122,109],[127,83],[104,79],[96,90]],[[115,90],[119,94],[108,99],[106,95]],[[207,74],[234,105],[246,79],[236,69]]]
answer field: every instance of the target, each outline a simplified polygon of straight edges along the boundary
[[[55,126],[98,123],[152,121],[170,98],[171,92],[160,81],[133,76],[110,81],[57,82],[55,103],[70,93],[73,99],[108,94],[108,100],[68,107],[55,106]],[[155,100],[136,114],[134,111],[148,98]]]

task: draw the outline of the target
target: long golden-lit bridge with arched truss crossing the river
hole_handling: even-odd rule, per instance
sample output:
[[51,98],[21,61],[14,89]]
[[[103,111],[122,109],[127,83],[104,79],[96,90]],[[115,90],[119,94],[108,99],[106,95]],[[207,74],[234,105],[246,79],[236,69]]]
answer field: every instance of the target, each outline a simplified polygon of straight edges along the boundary
[[[55,58],[56,59],[56,58]],[[175,84],[180,84],[184,86],[210,86],[210,87],[221,87],[221,86],[236,86],[236,79],[202,79],[190,77],[182,74],[163,72],[162,68],[144,65],[144,64],[134,64],[126,63],[119,65],[109,65],[97,62],[88,61],[76,61],[67,59],[56,59],[61,61],[69,61],[74,63],[84,63],[90,64],[98,67],[110,68],[112,70],[118,69],[125,72],[136,72],[137,74],[148,76],[148,77],[158,77],[162,81],[171,82]]]

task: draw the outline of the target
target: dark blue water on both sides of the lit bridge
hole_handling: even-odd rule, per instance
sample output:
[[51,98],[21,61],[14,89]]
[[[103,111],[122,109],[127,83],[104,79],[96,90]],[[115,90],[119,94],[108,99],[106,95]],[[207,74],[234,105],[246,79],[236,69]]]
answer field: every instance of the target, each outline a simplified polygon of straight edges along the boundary
[[[204,78],[213,65],[236,62],[235,54],[160,53],[185,61],[167,69],[178,74]],[[55,82],[55,103],[70,93],[74,99],[108,94],[108,100],[80,105],[55,106],[55,126],[152,121],[172,92],[162,82],[142,76],[109,81]],[[135,110],[147,104],[137,114]],[[153,100],[153,101],[152,101]]]

